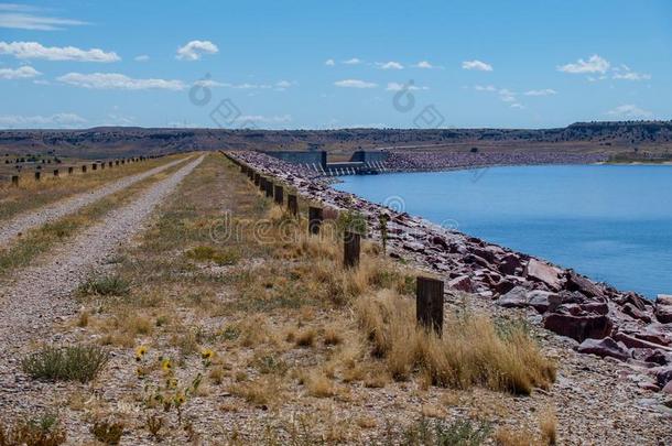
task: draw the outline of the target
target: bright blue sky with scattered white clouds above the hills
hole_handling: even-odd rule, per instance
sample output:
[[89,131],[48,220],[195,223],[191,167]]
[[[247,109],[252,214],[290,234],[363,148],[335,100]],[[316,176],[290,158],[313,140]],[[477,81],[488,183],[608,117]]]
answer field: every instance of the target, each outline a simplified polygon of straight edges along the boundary
[[670,1],[0,2],[0,128],[672,118]]

